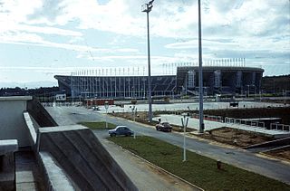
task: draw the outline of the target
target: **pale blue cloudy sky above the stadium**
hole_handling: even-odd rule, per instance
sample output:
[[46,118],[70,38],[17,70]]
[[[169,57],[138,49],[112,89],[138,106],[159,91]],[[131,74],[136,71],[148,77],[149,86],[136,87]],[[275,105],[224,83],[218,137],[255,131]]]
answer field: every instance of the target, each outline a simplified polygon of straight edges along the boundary
[[[52,86],[78,71],[146,74],[147,2],[0,0],[0,88]],[[289,0],[201,2],[204,62],[246,58],[264,75],[290,74]],[[150,45],[153,75],[197,62],[197,0],[155,0]]]

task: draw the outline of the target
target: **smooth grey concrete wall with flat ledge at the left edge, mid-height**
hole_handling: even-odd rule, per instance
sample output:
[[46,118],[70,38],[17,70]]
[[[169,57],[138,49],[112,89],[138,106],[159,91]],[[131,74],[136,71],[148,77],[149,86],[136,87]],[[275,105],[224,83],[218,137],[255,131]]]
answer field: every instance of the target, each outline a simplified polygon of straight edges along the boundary
[[19,147],[30,146],[23,113],[31,96],[0,97],[0,139],[17,139]]

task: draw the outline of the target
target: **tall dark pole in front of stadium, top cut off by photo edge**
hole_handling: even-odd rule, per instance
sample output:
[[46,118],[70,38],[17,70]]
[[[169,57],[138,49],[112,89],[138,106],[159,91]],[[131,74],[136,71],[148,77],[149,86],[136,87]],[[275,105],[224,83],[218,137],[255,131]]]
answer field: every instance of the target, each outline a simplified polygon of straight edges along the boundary
[[203,133],[205,124],[203,123],[203,76],[202,76],[202,46],[201,46],[201,18],[200,0],[198,0],[198,83],[199,83],[199,133]]

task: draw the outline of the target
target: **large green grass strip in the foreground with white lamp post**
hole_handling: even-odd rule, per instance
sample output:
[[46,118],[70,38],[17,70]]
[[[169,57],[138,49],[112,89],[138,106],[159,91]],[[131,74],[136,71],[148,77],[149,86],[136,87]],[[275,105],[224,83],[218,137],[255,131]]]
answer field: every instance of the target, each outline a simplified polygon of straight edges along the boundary
[[282,182],[224,163],[218,170],[216,160],[194,152],[187,151],[188,160],[182,162],[182,148],[157,138],[108,139],[205,190],[290,190]]

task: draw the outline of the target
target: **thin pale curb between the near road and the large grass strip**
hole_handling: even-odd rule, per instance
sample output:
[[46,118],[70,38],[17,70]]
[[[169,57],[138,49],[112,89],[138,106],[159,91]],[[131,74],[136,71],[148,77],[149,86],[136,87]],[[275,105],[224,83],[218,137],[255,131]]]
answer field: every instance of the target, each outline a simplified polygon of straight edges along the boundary
[[142,161],[148,163],[151,167],[154,167],[154,168],[156,168],[156,169],[158,169],[158,170],[164,172],[165,174],[168,174],[168,175],[171,176],[171,177],[175,177],[175,178],[179,179],[181,182],[184,182],[184,183],[188,184],[189,186],[195,187],[195,188],[197,188],[197,189],[200,190],[200,191],[205,191],[205,190],[202,189],[201,187],[198,187],[198,186],[193,185],[192,183],[190,183],[189,181],[183,179],[182,177],[179,177],[179,176],[177,176],[177,175],[174,175],[174,174],[170,173],[169,171],[167,171],[167,170],[163,169],[162,167],[159,167],[159,166],[157,166],[157,165],[151,163],[150,161],[148,161],[148,160],[145,159],[145,158],[141,158],[139,155],[137,155],[137,154],[131,152],[130,150],[128,150],[128,149],[126,149],[126,148],[122,148],[120,145],[118,145],[118,144],[112,142],[111,140],[110,140],[110,142],[113,143],[114,145],[120,147],[121,149],[125,150],[126,152],[130,153],[130,154],[131,154],[132,156],[134,156],[135,158],[139,158],[140,160],[142,160]]

